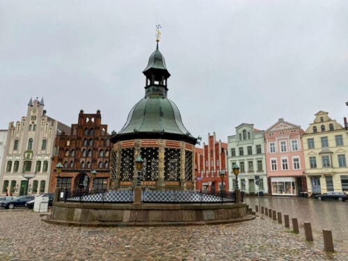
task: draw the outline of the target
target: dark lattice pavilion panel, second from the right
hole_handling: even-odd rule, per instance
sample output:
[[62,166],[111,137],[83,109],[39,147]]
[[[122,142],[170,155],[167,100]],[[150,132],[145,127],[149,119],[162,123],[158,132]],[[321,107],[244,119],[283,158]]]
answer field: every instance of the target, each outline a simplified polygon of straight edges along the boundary
[[180,180],[180,150],[164,150],[164,180]]

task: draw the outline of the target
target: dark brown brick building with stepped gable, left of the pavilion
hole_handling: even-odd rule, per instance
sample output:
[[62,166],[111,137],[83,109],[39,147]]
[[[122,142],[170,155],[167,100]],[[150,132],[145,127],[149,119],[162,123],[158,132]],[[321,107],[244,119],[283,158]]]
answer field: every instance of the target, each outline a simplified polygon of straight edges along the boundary
[[[97,113],[80,111],[79,121],[71,125],[70,134],[56,136],[56,152],[52,166],[58,162],[63,169],[58,181],[60,189],[73,191],[108,189],[110,181],[111,136],[107,125],[102,125],[100,110]],[[93,179],[91,171],[97,171]],[[56,169],[52,168],[49,191],[56,188]]]

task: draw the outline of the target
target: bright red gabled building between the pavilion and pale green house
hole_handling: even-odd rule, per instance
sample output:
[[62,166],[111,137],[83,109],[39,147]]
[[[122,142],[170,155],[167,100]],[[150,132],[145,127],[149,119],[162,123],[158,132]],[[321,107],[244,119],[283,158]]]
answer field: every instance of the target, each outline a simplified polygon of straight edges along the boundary
[[203,148],[195,148],[196,189],[202,191],[219,191],[221,171],[225,171],[223,181],[228,192],[228,171],[226,164],[227,143],[216,141],[215,132],[208,134],[208,143]]

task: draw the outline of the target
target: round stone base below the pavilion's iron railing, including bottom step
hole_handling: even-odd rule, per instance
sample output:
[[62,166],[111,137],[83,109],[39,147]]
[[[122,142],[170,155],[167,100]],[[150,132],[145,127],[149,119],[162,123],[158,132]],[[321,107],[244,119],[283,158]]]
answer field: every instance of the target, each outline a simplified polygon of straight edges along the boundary
[[199,226],[255,219],[245,203],[224,204],[102,204],[54,202],[42,219],[65,226]]

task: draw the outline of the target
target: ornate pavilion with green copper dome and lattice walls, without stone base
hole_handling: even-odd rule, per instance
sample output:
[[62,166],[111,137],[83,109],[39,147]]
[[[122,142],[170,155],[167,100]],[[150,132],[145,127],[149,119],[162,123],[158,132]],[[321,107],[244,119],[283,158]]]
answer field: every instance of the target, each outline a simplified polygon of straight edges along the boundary
[[[168,99],[171,74],[157,47],[143,70],[145,97],[129,112],[120,132],[111,141],[111,187],[129,189],[140,175],[149,189],[194,189],[194,146],[197,139],[184,127],[179,109]],[[137,171],[134,161],[141,156]]]

